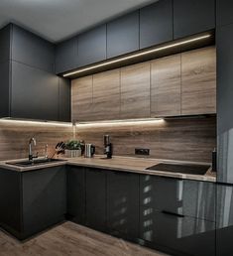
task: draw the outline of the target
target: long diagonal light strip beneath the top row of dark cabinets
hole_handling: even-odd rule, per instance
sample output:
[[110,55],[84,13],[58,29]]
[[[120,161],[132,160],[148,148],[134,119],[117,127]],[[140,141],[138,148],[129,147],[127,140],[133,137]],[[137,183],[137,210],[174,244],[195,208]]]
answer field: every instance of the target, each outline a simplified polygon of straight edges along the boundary
[[134,59],[136,57],[141,57],[141,56],[153,54],[153,53],[156,53],[156,52],[160,52],[160,51],[163,51],[163,50],[175,48],[175,47],[178,47],[178,46],[187,45],[189,43],[204,40],[204,39],[207,39],[207,38],[210,38],[210,37],[211,37],[211,34],[207,34],[207,35],[204,35],[204,36],[201,36],[201,37],[185,40],[185,41],[182,41],[182,42],[177,42],[177,43],[169,45],[169,46],[164,46],[164,47],[152,49],[152,50],[149,50],[149,51],[146,51],[146,52],[143,52],[143,53],[138,53],[138,54],[135,54],[135,55],[132,55],[132,56],[120,58],[120,59],[117,59],[117,60],[114,60],[114,61],[105,62],[103,64],[95,64],[95,65],[92,65],[92,66],[89,66],[89,67],[81,68],[81,69],[76,70],[76,71],[71,71],[71,72],[64,73],[63,77],[73,75],[73,74],[77,74],[77,73],[81,73],[81,72],[84,72],[84,71],[88,71],[88,70],[91,70],[91,69],[94,69],[94,68],[97,68],[97,67],[102,67],[102,66],[105,66],[105,65],[108,65],[108,64],[117,64],[117,63],[120,63],[120,62],[123,62],[123,61]]

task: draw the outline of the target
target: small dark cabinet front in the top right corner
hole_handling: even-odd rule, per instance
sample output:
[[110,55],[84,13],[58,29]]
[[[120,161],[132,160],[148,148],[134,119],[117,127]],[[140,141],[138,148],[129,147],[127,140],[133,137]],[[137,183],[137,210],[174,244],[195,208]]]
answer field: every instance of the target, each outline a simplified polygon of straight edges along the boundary
[[233,2],[229,0],[216,0],[216,25],[217,27],[233,23]]

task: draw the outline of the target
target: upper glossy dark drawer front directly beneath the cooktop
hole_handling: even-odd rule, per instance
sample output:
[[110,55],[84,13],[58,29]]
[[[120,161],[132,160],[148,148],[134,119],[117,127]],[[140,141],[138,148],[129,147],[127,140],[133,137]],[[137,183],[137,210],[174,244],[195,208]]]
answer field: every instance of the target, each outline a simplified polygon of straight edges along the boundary
[[148,206],[149,196],[154,210],[215,221],[213,183],[141,176],[140,196],[143,207]]

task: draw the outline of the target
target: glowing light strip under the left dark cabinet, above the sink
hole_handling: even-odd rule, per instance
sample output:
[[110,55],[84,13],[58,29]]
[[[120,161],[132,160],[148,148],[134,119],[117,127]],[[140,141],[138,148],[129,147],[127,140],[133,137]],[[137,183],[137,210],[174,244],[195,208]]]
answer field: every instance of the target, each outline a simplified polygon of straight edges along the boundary
[[31,120],[18,120],[18,119],[8,119],[2,118],[0,119],[1,124],[19,124],[19,125],[42,125],[42,126],[63,126],[63,127],[71,127],[72,123],[68,122],[56,122],[56,121],[31,121]]

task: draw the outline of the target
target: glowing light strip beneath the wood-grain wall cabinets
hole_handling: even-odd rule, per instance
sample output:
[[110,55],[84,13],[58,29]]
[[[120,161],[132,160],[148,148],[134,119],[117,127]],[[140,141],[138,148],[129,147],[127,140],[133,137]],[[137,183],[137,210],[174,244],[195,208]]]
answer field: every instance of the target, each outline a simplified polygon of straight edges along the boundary
[[113,127],[113,126],[126,126],[126,125],[147,125],[163,123],[163,118],[147,118],[147,119],[126,119],[126,120],[111,120],[111,121],[96,121],[96,122],[77,122],[75,125],[80,128],[91,127]]

